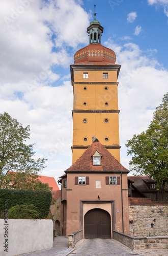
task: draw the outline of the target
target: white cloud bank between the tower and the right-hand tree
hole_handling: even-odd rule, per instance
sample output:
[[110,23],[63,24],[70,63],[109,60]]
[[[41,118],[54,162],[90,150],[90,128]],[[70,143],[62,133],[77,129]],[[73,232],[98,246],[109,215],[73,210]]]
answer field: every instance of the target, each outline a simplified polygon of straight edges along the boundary
[[133,43],[123,46],[106,41],[121,63],[119,75],[119,115],[121,163],[128,168],[125,143],[133,135],[145,131],[153,118],[153,112],[167,92],[168,71],[151,56],[151,50],[143,52]]

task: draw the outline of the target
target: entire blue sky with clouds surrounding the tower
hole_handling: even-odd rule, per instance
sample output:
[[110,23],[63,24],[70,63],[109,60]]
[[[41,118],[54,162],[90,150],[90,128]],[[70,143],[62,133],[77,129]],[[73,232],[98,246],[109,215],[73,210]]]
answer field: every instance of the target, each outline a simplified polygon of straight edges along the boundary
[[69,65],[89,44],[94,5],[101,44],[121,65],[120,154],[129,169],[125,143],[148,128],[168,91],[168,0],[1,0],[0,113],[30,125],[27,143],[48,159],[41,175],[56,181],[72,165]]

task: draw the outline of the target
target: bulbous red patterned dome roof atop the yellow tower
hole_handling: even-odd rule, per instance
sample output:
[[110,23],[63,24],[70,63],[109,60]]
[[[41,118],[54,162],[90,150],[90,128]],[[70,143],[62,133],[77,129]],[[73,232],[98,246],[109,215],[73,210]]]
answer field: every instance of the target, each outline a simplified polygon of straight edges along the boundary
[[81,62],[108,62],[115,64],[116,54],[113,50],[100,44],[92,43],[74,54],[75,63]]

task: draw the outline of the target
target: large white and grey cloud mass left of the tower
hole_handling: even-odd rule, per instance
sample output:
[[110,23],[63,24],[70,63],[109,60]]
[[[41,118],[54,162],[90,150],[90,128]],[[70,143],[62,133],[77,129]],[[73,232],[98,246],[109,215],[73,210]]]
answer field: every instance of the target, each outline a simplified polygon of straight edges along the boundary
[[54,70],[73,63],[74,49],[88,42],[89,14],[79,3],[2,0],[0,9],[1,113],[30,124],[29,143],[56,180],[72,158],[73,92],[70,76]]

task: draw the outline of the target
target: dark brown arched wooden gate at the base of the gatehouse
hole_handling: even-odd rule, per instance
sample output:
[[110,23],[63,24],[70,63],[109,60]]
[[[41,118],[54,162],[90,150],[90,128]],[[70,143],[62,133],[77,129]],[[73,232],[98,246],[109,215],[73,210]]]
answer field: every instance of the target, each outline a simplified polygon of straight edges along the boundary
[[111,238],[111,218],[106,210],[89,210],[84,221],[85,238]]

